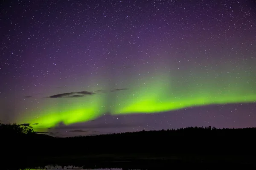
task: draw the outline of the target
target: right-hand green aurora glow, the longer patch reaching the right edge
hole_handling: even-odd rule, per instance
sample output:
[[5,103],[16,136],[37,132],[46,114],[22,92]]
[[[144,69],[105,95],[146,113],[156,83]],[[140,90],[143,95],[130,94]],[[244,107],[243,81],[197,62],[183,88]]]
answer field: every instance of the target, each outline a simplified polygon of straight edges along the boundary
[[[177,80],[175,86],[166,80],[168,79],[158,77],[148,87],[131,89],[134,93],[123,92],[111,113],[157,113],[192,106],[256,102],[256,91],[253,90],[256,87],[236,79],[227,82],[212,78],[198,79],[194,85],[189,81],[183,85],[184,81]],[[193,82],[192,78],[190,80]]]

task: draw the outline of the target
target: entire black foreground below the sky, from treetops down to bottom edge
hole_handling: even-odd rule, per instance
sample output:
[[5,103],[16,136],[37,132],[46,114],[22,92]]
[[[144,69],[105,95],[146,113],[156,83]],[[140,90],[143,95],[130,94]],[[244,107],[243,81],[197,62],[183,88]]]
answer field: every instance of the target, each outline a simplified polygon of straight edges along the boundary
[[256,167],[255,134],[256,128],[188,127],[73,138],[12,135],[1,139],[0,169],[48,164],[127,170],[249,169]]

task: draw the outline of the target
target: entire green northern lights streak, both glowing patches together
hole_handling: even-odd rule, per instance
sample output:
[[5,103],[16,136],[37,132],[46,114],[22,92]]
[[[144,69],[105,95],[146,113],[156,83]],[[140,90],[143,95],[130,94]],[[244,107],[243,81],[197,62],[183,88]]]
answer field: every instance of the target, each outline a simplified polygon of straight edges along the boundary
[[[213,79],[213,81],[207,80],[194,86],[189,86],[192,84],[189,81],[180,82],[176,85],[172,82],[152,81],[149,83],[149,87],[142,84],[139,86],[140,88],[105,92],[104,94],[95,93],[81,97],[69,95],[72,99],[67,99],[69,96],[64,96],[60,97],[64,99],[57,99],[60,105],[47,103],[43,113],[39,113],[43,116],[25,119],[23,122],[41,122],[43,127],[52,127],[58,125],[59,122],[70,125],[94,120],[104,113],[116,115],[160,113],[193,106],[256,101],[256,94],[253,93],[255,87],[250,82],[242,83],[236,81],[236,77],[231,77],[230,82],[228,82],[230,84],[227,84],[227,81],[224,80],[217,80],[219,83],[215,83],[216,79]],[[186,83],[189,85],[182,85]],[[73,99],[73,97],[76,99]],[[55,102],[53,101],[53,103]],[[40,125],[38,126],[40,127]]]

